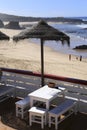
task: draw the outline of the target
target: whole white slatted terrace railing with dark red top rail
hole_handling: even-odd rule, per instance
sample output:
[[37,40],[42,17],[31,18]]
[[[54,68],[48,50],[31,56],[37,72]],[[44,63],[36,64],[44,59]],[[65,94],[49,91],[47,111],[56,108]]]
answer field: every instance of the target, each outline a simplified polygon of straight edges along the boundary
[[[28,93],[42,87],[41,74],[32,71],[1,68],[2,80],[6,86],[16,88],[16,97],[24,98]],[[44,75],[45,84],[54,82],[56,86],[66,88],[65,97],[79,102],[78,110],[87,113],[87,81],[55,75]]]

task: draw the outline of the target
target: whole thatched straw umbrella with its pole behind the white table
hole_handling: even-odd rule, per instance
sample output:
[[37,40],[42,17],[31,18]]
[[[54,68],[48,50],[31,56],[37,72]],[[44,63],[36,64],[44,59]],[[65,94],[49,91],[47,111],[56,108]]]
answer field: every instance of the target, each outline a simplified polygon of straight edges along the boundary
[[46,40],[67,41],[70,44],[70,38],[65,33],[48,25],[44,20],[40,20],[32,29],[26,29],[20,34],[13,37],[13,40],[18,41],[26,38],[39,38],[41,40],[41,85],[44,85],[44,48],[43,44]]

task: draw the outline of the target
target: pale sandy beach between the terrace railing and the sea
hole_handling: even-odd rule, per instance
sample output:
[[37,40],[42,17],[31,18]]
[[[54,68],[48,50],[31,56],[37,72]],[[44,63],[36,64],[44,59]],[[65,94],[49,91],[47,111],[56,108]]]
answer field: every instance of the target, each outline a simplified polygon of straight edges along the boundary
[[[18,34],[21,30],[0,29],[10,37]],[[14,43],[0,41],[0,67],[15,68],[41,72],[40,45],[26,39]],[[87,80],[87,59],[82,61],[68,54],[62,54],[44,46],[44,71],[46,74],[66,76]]]

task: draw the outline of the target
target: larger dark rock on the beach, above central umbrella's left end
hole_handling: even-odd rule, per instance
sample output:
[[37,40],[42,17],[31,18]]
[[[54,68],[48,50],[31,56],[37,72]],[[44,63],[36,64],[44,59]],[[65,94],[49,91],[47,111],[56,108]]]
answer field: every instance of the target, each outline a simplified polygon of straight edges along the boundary
[[16,22],[16,21],[9,22],[8,24],[6,24],[4,26],[4,28],[7,28],[7,29],[22,29],[19,25],[19,22]]

